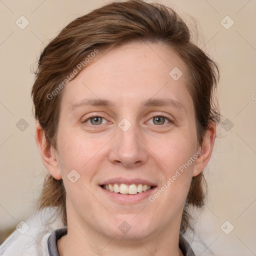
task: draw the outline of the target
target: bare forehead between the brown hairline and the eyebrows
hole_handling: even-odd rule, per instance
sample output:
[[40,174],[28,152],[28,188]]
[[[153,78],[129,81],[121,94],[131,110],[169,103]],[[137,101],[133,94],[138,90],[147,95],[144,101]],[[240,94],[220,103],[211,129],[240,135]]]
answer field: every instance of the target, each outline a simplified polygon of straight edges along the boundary
[[[154,96],[166,98],[167,94],[176,101],[189,96],[186,66],[166,44],[130,42],[107,52],[99,49],[96,57],[66,84],[62,100],[69,109],[84,97],[108,98],[124,104]],[[181,76],[176,79],[172,70]]]

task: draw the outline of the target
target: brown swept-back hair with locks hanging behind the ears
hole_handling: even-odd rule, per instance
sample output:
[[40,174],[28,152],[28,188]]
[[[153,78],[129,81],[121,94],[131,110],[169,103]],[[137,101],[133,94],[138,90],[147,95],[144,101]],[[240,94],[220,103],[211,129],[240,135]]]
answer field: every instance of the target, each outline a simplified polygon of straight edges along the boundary
[[[184,61],[189,72],[187,86],[195,109],[199,144],[209,121],[219,122],[219,112],[214,103],[218,68],[192,43],[190,31],[183,20],[171,8],[162,4],[149,4],[142,0],[112,2],[70,22],[40,55],[31,91],[34,116],[54,149],[57,145],[56,133],[63,90],[57,90],[54,95],[52,92],[56,92],[57,87],[62,88],[63,80],[95,49],[109,50],[115,45],[130,41],[163,42],[174,49]],[[61,83],[63,86],[59,86]],[[192,228],[189,224],[189,206],[203,205],[204,181],[202,172],[192,177],[180,224],[180,231],[183,233],[187,227]],[[56,180],[51,175],[45,177],[38,198],[38,209],[47,206],[56,206],[56,216],[61,216],[64,225],[67,224],[65,188],[62,179]]]

